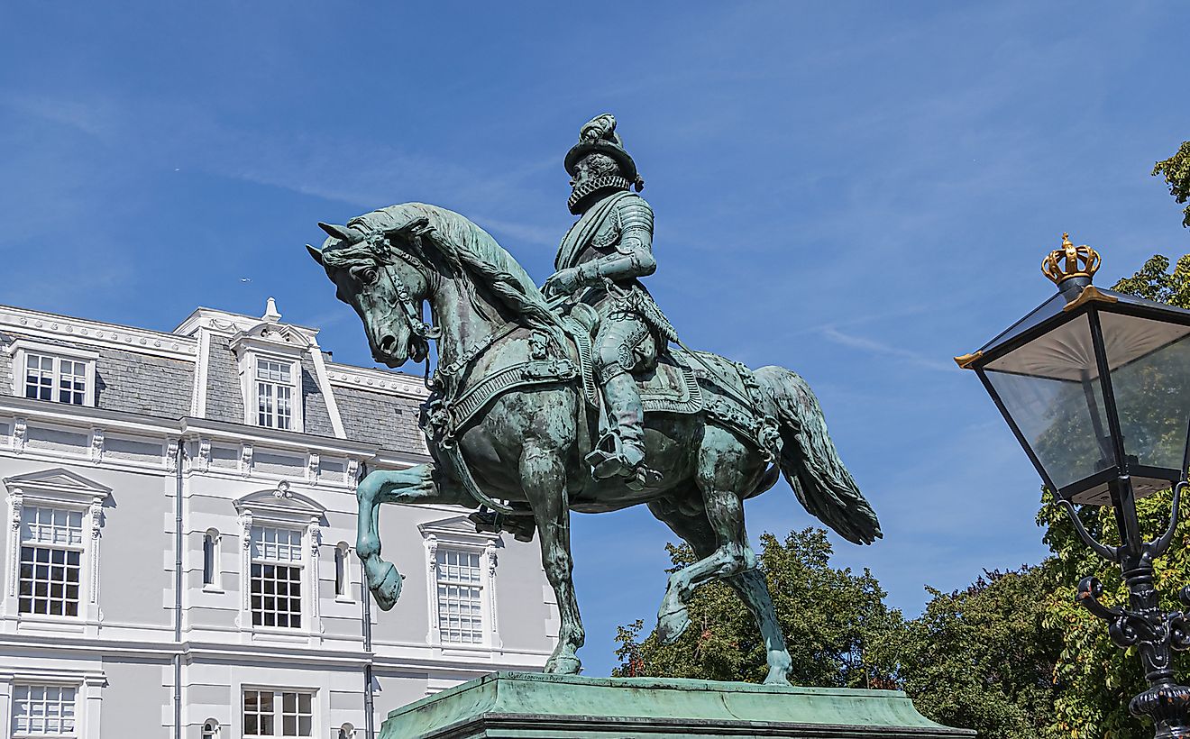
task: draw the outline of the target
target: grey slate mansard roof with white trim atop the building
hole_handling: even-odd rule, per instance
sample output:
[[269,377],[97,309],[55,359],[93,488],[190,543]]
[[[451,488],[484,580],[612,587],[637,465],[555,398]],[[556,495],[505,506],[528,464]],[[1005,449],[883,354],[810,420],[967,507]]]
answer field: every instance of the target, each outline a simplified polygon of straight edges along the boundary
[[259,317],[196,308],[171,333],[0,306],[0,394],[20,395],[15,346],[84,349],[98,356],[100,409],[246,424],[245,357],[255,352],[294,362],[303,433],[425,455],[418,417],[428,393],[421,378],[332,362],[318,333],[283,322],[271,299]]

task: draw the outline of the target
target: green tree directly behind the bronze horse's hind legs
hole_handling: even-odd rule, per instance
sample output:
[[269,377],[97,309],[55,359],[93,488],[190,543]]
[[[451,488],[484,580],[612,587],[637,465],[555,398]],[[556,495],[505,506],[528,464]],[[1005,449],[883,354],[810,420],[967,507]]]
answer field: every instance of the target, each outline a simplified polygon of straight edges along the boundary
[[[760,537],[759,568],[769,580],[785,640],[794,645],[790,681],[798,685],[891,687],[892,670],[870,653],[889,653],[901,613],[884,605],[884,590],[866,569],[831,566],[831,543],[821,528],[791,532],[784,541]],[[674,571],[690,564],[689,547],[668,545]],[[619,630],[618,676],[697,677],[760,682],[768,674],[764,643],[734,590],[709,583],[690,601],[691,625],[672,645],[643,622]]]

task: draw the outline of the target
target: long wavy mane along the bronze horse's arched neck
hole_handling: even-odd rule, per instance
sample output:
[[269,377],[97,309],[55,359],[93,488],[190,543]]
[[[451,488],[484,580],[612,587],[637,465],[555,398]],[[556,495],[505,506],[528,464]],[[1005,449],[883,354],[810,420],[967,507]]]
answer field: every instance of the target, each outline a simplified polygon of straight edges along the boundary
[[[453,211],[424,202],[405,202],[352,218],[347,226],[359,227],[365,232],[392,231],[419,219],[425,219],[430,227],[420,237],[422,248],[437,249],[449,262],[464,268],[476,282],[490,289],[497,300],[514,314],[527,319],[531,325],[558,326],[558,318],[528,273],[490,233]],[[327,249],[322,256],[330,267],[377,258],[367,242]]]

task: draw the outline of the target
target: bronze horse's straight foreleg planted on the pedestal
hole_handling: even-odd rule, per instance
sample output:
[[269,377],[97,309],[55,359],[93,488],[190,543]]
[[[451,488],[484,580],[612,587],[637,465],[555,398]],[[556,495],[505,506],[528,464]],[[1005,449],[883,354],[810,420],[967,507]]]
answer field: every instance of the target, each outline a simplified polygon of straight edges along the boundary
[[541,564],[557,596],[562,619],[558,645],[546,660],[545,671],[576,675],[582,666],[577,652],[585,634],[571,580],[574,560],[570,556],[570,507],[560,452],[526,443],[520,458],[520,475],[541,539]]

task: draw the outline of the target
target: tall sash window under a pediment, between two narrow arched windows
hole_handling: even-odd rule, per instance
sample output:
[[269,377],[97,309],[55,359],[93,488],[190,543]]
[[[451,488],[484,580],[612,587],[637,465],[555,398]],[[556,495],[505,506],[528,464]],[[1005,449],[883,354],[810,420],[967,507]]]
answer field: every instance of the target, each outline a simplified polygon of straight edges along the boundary
[[252,527],[253,626],[301,628],[302,532]]

